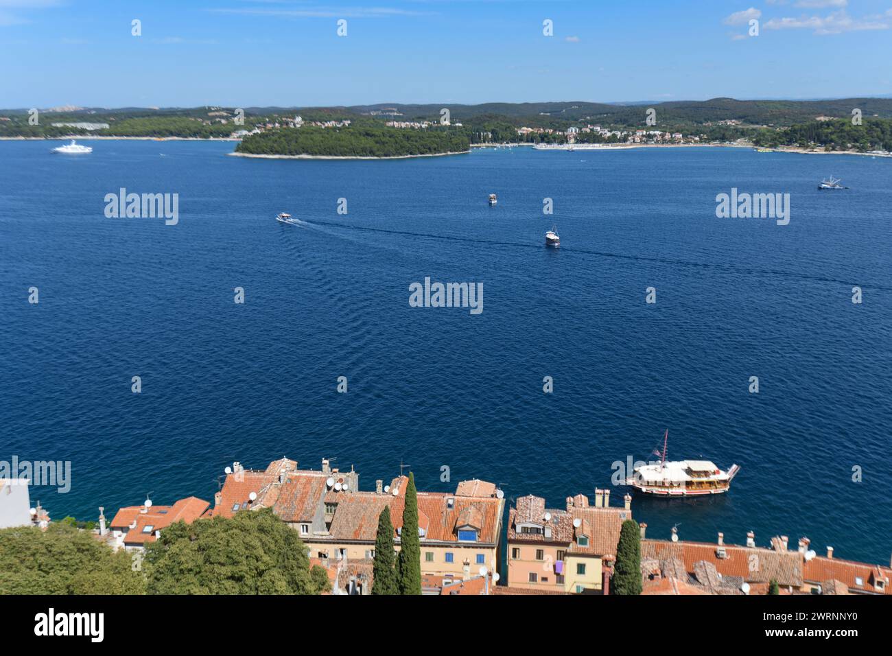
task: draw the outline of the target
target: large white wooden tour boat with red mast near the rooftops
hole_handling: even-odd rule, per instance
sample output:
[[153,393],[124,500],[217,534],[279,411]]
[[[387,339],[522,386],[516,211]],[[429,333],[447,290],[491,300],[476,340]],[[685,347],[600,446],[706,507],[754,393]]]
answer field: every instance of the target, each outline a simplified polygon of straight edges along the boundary
[[666,430],[663,452],[654,452],[660,456],[660,461],[636,467],[632,476],[625,480],[627,486],[642,494],[655,496],[722,494],[731,488],[731,480],[740,470],[738,465],[731,465],[731,469],[723,471],[713,461],[666,462],[668,438],[669,431]]

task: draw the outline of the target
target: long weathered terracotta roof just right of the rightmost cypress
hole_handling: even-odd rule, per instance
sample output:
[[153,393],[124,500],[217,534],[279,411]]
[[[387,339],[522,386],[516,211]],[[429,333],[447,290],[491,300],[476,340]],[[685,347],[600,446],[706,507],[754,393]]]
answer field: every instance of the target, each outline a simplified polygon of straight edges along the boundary
[[727,558],[716,555],[717,544],[698,542],[668,542],[665,540],[641,540],[641,558],[667,560],[677,558],[688,572],[694,564],[707,561],[725,576],[742,577],[747,582],[768,582],[776,579],[779,585],[802,585],[803,557],[800,552],[774,552],[759,547],[743,547],[725,544]]

